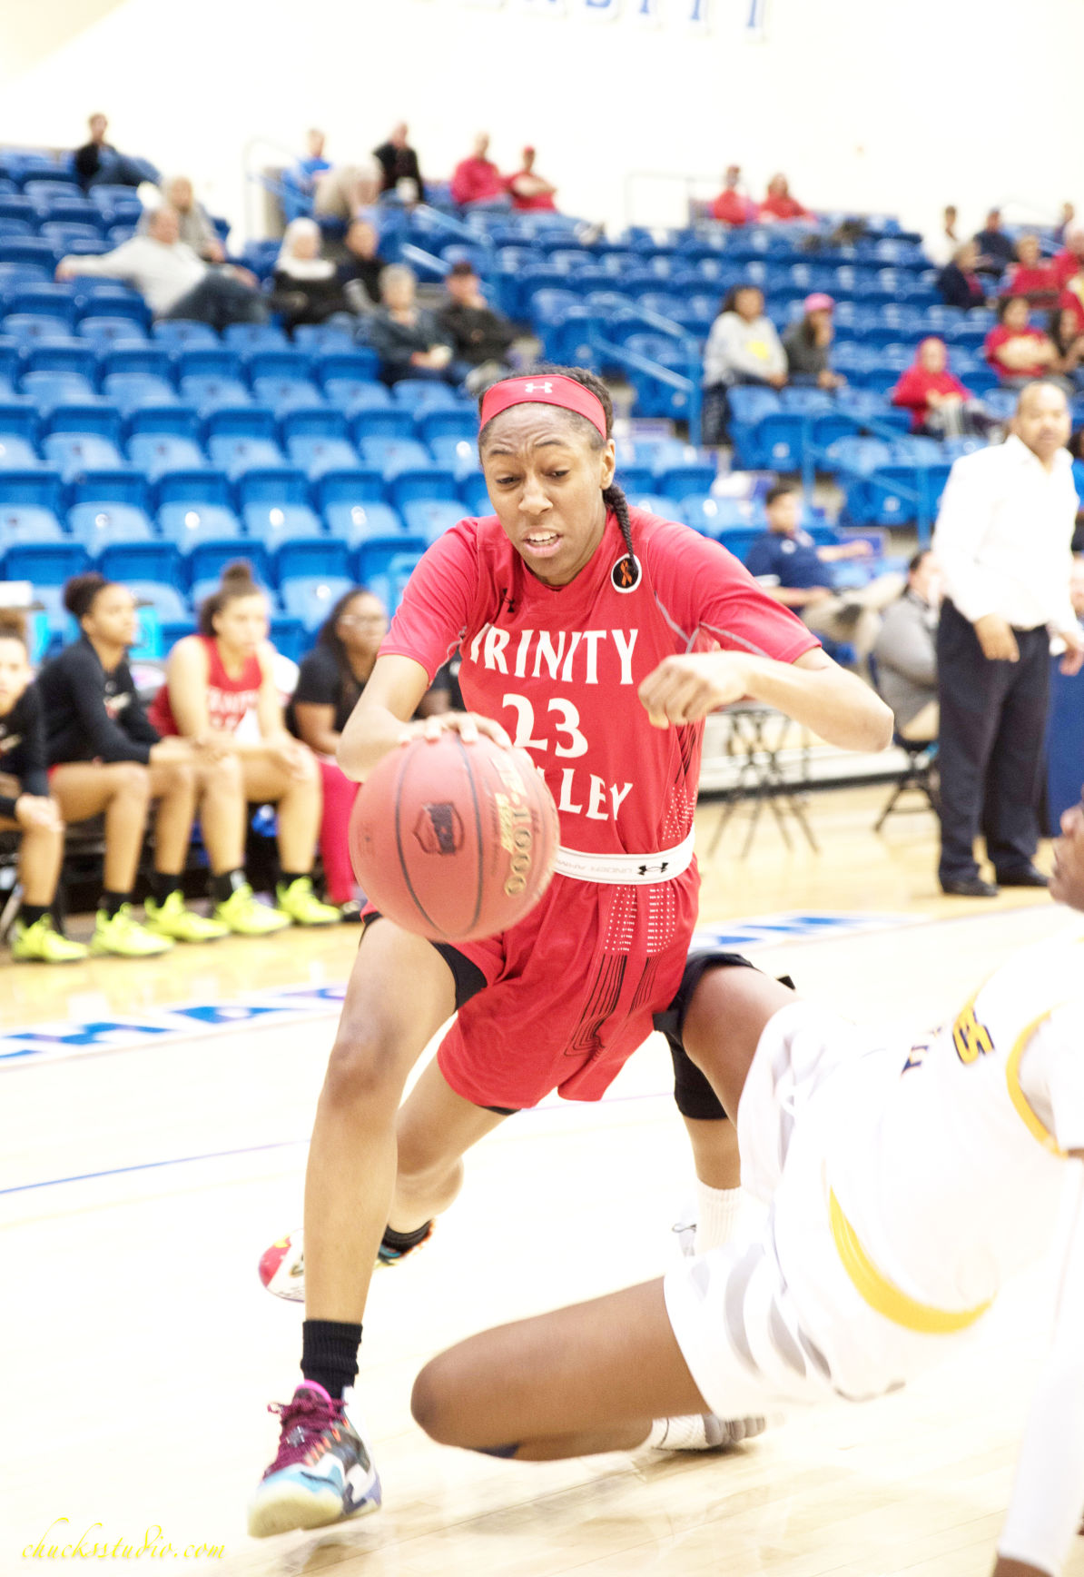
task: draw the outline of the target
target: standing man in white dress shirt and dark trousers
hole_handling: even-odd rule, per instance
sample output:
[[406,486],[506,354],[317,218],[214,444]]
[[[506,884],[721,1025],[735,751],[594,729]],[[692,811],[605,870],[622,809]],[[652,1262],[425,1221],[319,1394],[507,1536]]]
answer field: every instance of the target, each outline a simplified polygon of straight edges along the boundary
[[1076,519],[1064,393],[1021,390],[1012,434],[963,456],[941,500],[933,547],[945,598],[937,629],[941,886],[993,897],[975,836],[1002,886],[1046,886],[1035,869],[1049,637],[1064,672],[1084,661],[1068,595]]

